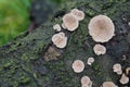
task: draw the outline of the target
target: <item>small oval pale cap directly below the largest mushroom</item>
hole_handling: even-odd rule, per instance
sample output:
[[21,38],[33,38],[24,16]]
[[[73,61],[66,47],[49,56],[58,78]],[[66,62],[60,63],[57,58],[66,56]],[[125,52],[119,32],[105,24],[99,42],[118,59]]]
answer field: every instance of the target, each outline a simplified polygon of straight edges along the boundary
[[94,50],[94,53],[96,55],[101,55],[101,54],[105,54],[106,53],[106,48],[100,44],[96,44],[94,47],[93,47],[93,50]]

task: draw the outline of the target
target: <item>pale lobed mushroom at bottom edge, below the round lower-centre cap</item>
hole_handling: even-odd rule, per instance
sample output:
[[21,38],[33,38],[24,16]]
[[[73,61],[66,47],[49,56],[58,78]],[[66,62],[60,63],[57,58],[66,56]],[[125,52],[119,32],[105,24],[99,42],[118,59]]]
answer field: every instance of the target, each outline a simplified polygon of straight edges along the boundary
[[92,87],[92,80],[90,79],[89,76],[82,76],[81,85],[82,85],[82,87]]

